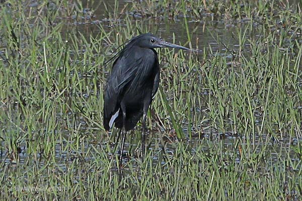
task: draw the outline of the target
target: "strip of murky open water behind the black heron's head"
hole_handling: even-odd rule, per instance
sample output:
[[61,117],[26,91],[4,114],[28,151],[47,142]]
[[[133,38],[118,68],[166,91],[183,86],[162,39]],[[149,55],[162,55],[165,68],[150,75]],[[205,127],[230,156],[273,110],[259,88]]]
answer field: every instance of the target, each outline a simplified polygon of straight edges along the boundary
[[[84,8],[86,5],[88,5],[86,13],[90,14],[90,1],[82,2]],[[119,11],[123,10],[127,4],[130,5],[129,1],[118,2]],[[106,1],[106,4],[109,5],[109,8],[110,6],[114,8],[114,3],[115,1]],[[84,17],[82,19],[75,19],[75,16],[73,16],[73,19],[69,20],[68,22],[66,21],[66,30],[68,30],[68,28],[77,29],[86,36],[96,36],[100,32],[98,27],[99,23],[102,24],[102,26],[108,31],[112,31],[115,26],[126,27],[126,20],[124,20],[123,17],[128,15],[132,25],[134,25],[134,31],[136,31],[135,28],[139,30],[140,25],[142,25],[143,27],[147,28],[146,32],[150,32],[158,37],[162,37],[166,41],[173,42],[173,37],[175,37],[177,44],[185,44],[188,41],[186,28],[184,27],[185,19],[182,16],[177,16],[174,18],[167,18],[165,16],[153,18],[143,17],[139,13],[135,12],[136,11],[131,9],[130,6],[129,10],[125,10],[121,14],[120,20],[113,21],[112,19],[108,19],[108,16],[105,14],[105,7],[103,4],[100,4],[97,9],[95,9],[91,19],[89,19],[91,15],[88,15],[87,18]],[[210,15],[205,15],[202,19],[187,16],[189,32],[190,34],[193,33],[191,35],[192,47],[202,50],[204,47],[208,48],[210,45],[213,52],[216,52],[217,50],[220,50],[220,52],[222,50],[223,52],[225,48],[221,43],[217,43],[217,40],[219,40],[219,42],[222,42],[229,48],[237,50],[239,43],[236,37],[234,38],[234,35],[236,35],[236,30],[238,28],[245,28],[246,22],[247,20],[235,20],[230,22],[224,22],[220,19],[213,20],[213,17]],[[139,26],[135,27],[135,23],[137,23]],[[74,27],[74,25],[76,25],[76,27]],[[145,32],[145,30],[141,31]]]

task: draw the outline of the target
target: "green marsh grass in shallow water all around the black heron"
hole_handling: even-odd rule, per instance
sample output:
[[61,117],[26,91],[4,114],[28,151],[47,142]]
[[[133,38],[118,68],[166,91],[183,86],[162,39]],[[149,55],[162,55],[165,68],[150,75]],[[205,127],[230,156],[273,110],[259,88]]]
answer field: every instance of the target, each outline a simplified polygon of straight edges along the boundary
[[[0,2],[1,200],[300,200],[301,1]],[[141,32],[199,51],[159,51],[119,173],[104,63]]]

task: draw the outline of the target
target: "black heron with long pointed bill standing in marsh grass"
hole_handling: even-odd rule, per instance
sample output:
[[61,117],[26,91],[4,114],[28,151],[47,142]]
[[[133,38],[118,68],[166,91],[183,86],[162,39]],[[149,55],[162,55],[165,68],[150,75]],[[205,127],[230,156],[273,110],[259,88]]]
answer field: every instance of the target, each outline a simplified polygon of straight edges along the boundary
[[113,126],[122,133],[122,147],[119,160],[122,161],[126,133],[132,130],[142,117],[141,151],[144,158],[144,137],[146,115],[159,88],[160,65],[154,48],[186,47],[165,42],[152,34],[133,37],[111,60],[115,59],[111,75],[104,92],[104,128]]

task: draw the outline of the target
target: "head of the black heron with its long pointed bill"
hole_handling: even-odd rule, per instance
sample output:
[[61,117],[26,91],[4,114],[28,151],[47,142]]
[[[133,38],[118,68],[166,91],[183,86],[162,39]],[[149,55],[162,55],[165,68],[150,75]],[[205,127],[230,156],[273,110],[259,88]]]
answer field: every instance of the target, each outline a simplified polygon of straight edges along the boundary
[[135,45],[142,47],[142,48],[178,48],[183,50],[189,50],[189,48],[175,45],[172,43],[168,43],[165,40],[158,38],[152,34],[142,34],[137,37],[134,37],[131,39],[131,42],[133,42]]

